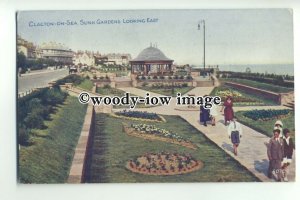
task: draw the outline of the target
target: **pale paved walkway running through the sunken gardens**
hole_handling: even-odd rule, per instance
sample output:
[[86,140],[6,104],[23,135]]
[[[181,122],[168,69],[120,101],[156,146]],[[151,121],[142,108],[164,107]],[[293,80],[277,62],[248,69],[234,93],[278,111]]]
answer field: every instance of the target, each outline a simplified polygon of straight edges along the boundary
[[[146,91],[138,88],[120,88],[121,90],[128,91],[132,94],[145,96]],[[209,94],[212,91],[213,87],[196,87],[193,90],[189,91],[189,94],[195,94],[196,96],[203,96]],[[157,95],[151,93],[150,95]],[[269,141],[269,137],[263,135],[247,126],[242,125],[243,136],[241,139],[241,144],[238,148],[238,156],[234,156],[232,153],[232,144],[227,135],[227,127],[224,125],[223,115],[220,115],[216,118],[216,126],[207,127],[200,125],[199,123],[199,111],[180,111],[175,110],[175,101],[171,101],[169,107],[152,107],[152,108],[136,108],[135,110],[139,111],[148,111],[156,112],[162,115],[179,115],[187,122],[189,122],[196,129],[201,131],[206,135],[210,140],[216,143],[239,163],[245,166],[249,171],[251,171],[255,176],[257,176],[261,181],[273,181],[267,177],[267,169],[269,161],[267,158],[267,149],[265,142]],[[235,107],[234,111],[241,110],[253,110],[253,109],[286,109],[283,106],[249,106],[249,107]],[[220,109],[220,108],[217,108]],[[116,109],[117,110],[117,109]],[[295,156],[294,156],[295,158]],[[295,180],[295,162],[290,166],[289,180]]]

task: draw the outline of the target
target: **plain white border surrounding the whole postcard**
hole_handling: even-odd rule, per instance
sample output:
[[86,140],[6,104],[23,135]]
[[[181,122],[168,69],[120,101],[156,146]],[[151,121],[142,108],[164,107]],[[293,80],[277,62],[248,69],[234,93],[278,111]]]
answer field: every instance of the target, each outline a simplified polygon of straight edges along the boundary
[[[16,109],[15,109],[15,12],[17,10],[110,10],[110,9],[239,9],[293,8],[294,66],[296,76],[296,110],[299,110],[298,69],[300,52],[299,0],[0,0],[0,199],[295,199],[297,183],[177,183],[177,184],[85,184],[85,185],[18,185],[16,181]],[[299,112],[296,112],[296,121]],[[300,129],[296,124],[296,130]],[[297,134],[298,135],[298,134]],[[299,146],[299,136],[296,137]],[[299,190],[298,190],[299,191]]]

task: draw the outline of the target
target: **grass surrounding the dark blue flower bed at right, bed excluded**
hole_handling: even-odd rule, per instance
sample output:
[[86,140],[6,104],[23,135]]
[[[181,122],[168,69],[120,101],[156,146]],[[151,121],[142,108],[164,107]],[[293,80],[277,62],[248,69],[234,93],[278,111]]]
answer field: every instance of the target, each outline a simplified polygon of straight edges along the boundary
[[[235,113],[235,116],[238,118],[239,122],[253,128],[258,132],[261,132],[268,137],[273,136],[274,124],[277,119],[270,119],[268,121],[252,120],[243,115],[245,112],[247,111],[239,111]],[[283,123],[283,128],[288,128],[290,130],[290,136],[295,141],[295,113],[291,111],[287,117],[284,117],[280,120]]]

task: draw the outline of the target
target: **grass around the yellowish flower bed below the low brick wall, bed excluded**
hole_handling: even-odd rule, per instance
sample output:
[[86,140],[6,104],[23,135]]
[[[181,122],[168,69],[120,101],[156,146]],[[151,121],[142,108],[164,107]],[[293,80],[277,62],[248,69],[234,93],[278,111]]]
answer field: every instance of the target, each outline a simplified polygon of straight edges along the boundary
[[238,89],[235,89],[235,88],[232,88],[232,87],[229,87],[229,86],[225,86],[225,85],[221,85],[219,87],[215,87],[211,91],[210,96],[215,96],[217,94],[217,92],[220,91],[220,90],[221,91],[223,91],[223,90],[237,91],[240,94],[242,94],[242,96],[244,98],[247,98],[247,99],[251,100],[249,102],[236,102],[234,100],[234,98],[233,98],[234,106],[266,106],[266,105],[277,105],[274,101],[272,101],[270,99],[267,99],[265,97],[261,97],[261,96],[249,94],[249,93],[247,93],[247,92],[245,92],[243,90],[238,90]]

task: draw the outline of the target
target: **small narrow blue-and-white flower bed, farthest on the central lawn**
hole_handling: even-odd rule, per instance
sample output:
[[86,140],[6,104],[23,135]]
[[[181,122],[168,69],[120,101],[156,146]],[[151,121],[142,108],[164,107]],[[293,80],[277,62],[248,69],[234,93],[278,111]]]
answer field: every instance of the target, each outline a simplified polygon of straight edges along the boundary
[[125,119],[133,119],[133,120],[142,120],[142,121],[154,121],[154,122],[165,122],[166,120],[156,114],[149,112],[141,112],[141,111],[127,111],[123,110],[120,112],[116,112],[112,114],[114,117],[125,118]]

